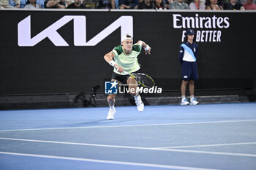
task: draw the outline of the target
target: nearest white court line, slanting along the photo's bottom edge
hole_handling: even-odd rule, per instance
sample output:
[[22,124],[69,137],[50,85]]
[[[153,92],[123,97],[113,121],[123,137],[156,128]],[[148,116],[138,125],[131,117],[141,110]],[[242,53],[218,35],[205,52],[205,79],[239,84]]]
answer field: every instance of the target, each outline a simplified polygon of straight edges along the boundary
[[37,154],[27,154],[27,153],[17,153],[17,152],[0,152],[0,154],[21,155],[21,156],[39,157],[39,158],[54,158],[54,159],[64,159],[64,160],[71,160],[71,161],[88,161],[88,162],[97,162],[97,163],[112,163],[112,164],[121,164],[121,165],[128,165],[128,166],[149,166],[149,167],[157,167],[157,168],[164,168],[164,169],[217,170],[217,169],[195,168],[195,167],[189,167],[189,166],[171,166],[171,165],[162,165],[162,164],[153,164],[153,163],[107,161],[107,160],[98,160],[98,159],[73,158],[73,157],[53,156],[53,155],[37,155]]

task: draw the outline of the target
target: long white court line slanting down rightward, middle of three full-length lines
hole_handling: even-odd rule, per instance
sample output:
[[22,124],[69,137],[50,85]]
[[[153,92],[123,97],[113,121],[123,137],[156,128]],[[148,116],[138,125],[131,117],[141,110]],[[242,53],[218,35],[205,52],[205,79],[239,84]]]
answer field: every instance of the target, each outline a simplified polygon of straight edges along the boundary
[[56,141],[1,138],[1,137],[0,137],[0,139],[25,141],[25,142],[52,143],[52,144],[84,145],[84,146],[91,146],[91,147],[114,147],[114,148],[132,149],[132,150],[157,150],[157,151],[168,151],[168,152],[192,152],[192,153],[211,154],[211,155],[231,155],[231,156],[256,157],[255,154],[234,153],[234,152],[211,152],[211,151],[202,151],[202,150],[177,150],[177,149],[165,149],[165,148],[156,148],[156,147],[129,147],[129,146],[110,145],[110,144],[87,144],[87,143],[77,143],[77,142],[56,142]]

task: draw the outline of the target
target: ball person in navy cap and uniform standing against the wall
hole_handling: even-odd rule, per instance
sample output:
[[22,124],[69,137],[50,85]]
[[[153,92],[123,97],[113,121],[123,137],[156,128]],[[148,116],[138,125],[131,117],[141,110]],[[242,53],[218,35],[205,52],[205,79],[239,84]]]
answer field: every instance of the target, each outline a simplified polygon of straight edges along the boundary
[[[186,36],[187,41],[181,45],[179,52],[179,61],[181,63],[182,70],[181,105],[196,105],[198,104],[198,101],[194,97],[194,80],[198,79],[196,63],[198,47],[194,42],[194,30],[187,30]],[[190,103],[186,98],[187,83],[189,83]]]

